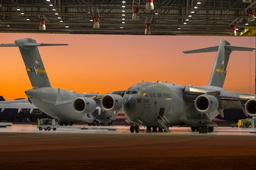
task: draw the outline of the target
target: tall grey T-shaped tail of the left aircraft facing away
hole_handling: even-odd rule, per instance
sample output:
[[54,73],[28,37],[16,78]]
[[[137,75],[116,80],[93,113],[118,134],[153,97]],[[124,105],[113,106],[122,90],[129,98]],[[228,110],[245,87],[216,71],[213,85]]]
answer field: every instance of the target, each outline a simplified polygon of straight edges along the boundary
[[15,40],[15,44],[0,44],[0,47],[18,47],[23,57],[31,85],[33,87],[50,87],[50,81],[37,47],[62,45],[67,44],[36,43],[34,39],[24,38]]

